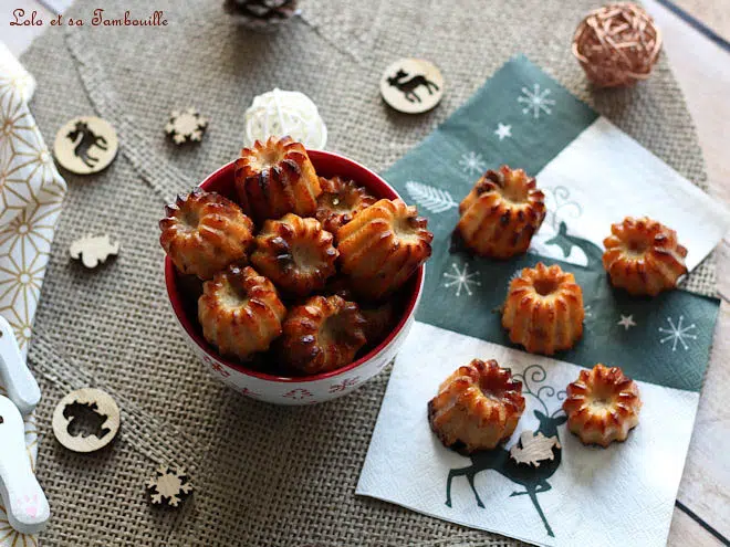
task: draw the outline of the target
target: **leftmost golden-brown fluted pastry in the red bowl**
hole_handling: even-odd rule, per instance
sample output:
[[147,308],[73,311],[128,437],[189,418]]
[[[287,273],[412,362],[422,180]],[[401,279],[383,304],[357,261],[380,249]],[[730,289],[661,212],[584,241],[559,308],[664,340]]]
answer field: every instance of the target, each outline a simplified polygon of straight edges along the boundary
[[159,243],[184,274],[209,280],[234,261],[246,259],[253,222],[232,201],[196,188],[165,208]]

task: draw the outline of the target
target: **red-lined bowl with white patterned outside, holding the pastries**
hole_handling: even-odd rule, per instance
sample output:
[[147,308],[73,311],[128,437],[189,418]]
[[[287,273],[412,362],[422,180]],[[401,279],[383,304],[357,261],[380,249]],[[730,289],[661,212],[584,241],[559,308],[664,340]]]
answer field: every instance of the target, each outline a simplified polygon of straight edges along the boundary
[[[307,152],[317,175],[322,177],[338,176],[352,179],[378,198],[399,198],[393,187],[379,176],[351,159],[321,150],[309,150]],[[236,199],[233,171],[234,162],[231,161],[206,178],[200,187]],[[395,357],[395,353],[410,329],[423,291],[424,275],[425,269],[420,266],[400,290],[403,299],[400,318],[393,332],[367,354],[331,372],[310,376],[278,376],[253,370],[240,361],[222,357],[213,346],[206,341],[197,317],[185,305],[180,290],[180,275],[173,261],[168,256],[165,257],[167,294],[188,345],[204,365],[211,369],[213,376],[237,391],[254,399],[279,404],[304,404],[334,399],[361,386],[382,370]]]

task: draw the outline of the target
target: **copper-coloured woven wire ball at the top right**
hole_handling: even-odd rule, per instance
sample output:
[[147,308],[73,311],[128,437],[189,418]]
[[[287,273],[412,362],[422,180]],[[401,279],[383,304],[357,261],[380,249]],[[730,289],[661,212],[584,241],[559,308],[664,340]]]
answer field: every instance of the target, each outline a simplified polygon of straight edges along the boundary
[[634,3],[612,3],[592,11],[573,36],[573,55],[598,87],[646,80],[660,50],[659,29]]

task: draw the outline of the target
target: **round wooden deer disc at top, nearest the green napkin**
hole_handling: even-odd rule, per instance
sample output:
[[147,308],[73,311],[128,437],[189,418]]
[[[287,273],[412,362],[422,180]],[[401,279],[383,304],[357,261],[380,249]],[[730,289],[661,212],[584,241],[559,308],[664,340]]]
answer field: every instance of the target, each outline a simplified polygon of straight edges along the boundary
[[419,114],[441,101],[444,76],[434,63],[423,59],[400,59],[383,73],[380,94],[396,111]]

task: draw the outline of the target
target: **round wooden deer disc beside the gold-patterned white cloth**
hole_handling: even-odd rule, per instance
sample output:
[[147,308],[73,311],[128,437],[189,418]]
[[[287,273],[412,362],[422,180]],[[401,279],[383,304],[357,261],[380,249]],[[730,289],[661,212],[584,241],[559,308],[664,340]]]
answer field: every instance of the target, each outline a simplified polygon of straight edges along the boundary
[[91,175],[114,161],[119,141],[114,127],[95,116],[69,120],[53,141],[53,156],[61,167],[76,175]]

